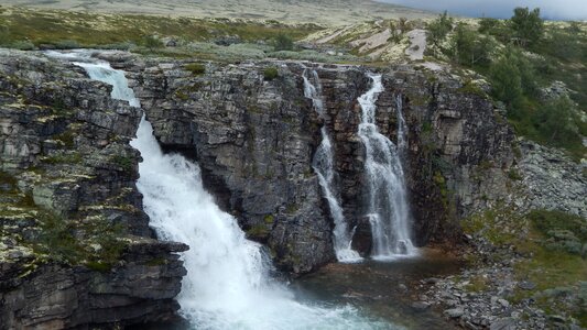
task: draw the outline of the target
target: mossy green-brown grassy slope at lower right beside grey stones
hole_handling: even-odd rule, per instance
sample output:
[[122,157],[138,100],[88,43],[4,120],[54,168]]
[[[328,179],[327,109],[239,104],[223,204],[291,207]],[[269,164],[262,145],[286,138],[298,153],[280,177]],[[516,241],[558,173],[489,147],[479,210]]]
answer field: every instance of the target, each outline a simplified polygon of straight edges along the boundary
[[[547,314],[565,310],[587,326],[587,219],[551,210],[520,216],[514,208],[499,205],[465,219],[463,229],[497,246],[512,246],[523,256],[514,264],[517,279],[529,280],[535,288],[518,288],[510,300],[532,298]],[[511,252],[502,256],[510,260]],[[471,280],[468,288],[482,289],[482,278]]]

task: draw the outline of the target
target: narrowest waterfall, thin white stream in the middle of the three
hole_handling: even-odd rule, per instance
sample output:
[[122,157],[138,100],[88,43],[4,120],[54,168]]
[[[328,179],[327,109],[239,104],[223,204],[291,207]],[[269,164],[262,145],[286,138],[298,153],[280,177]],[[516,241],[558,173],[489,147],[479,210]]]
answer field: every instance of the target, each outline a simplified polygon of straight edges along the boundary
[[[308,69],[304,69],[302,75],[304,78],[304,96],[312,99],[314,110],[320,118],[324,119],[324,102],[322,100],[322,85],[316,70],[311,70],[312,77],[307,76]],[[314,84],[311,81],[314,80]],[[336,252],[336,258],[339,262],[352,263],[361,261],[359,253],[350,248],[351,237],[348,231],[347,221],[343,215],[343,208],[338,204],[335,189],[335,169],[334,169],[334,154],[333,145],[328,136],[328,129],[324,124],[320,129],[322,142],[314,158],[312,161],[312,167],[318,176],[318,182],[324,193],[324,197],[328,201],[328,208],[330,209],[330,216],[335,222],[334,229],[334,245]]]

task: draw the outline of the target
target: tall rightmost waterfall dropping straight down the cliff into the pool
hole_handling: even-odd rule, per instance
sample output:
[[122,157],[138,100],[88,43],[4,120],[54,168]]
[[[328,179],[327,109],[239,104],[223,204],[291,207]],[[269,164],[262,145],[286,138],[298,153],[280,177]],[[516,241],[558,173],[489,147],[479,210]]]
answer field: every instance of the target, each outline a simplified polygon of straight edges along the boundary
[[398,145],[379,133],[376,123],[376,101],[383,91],[381,75],[370,75],[371,88],[359,97],[361,123],[359,136],[366,148],[365,169],[369,188],[368,217],[373,237],[373,258],[389,260],[415,255],[411,240],[410,209],[401,163],[406,146],[405,121],[401,97],[398,106]]

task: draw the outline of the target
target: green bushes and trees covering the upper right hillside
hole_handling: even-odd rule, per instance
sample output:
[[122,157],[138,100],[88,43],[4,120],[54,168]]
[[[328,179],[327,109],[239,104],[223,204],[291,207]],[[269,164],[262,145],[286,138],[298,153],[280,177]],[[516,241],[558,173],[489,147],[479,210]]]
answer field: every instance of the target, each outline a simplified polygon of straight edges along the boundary
[[[585,24],[544,23],[540,9],[517,8],[510,20],[481,19],[476,29],[445,14],[428,23],[428,54],[486,76],[519,135],[562,147],[579,160],[587,148]],[[501,45],[502,46],[501,46]],[[576,90],[545,92],[553,81]]]

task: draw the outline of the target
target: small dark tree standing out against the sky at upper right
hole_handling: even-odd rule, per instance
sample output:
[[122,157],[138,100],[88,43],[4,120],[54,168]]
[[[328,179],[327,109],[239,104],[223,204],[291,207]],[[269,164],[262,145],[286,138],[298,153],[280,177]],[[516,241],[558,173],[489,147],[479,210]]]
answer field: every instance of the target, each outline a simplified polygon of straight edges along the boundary
[[535,45],[544,35],[544,21],[540,16],[540,8],[532,11],[528,7],[514,9],[510,28],[522,47]]

